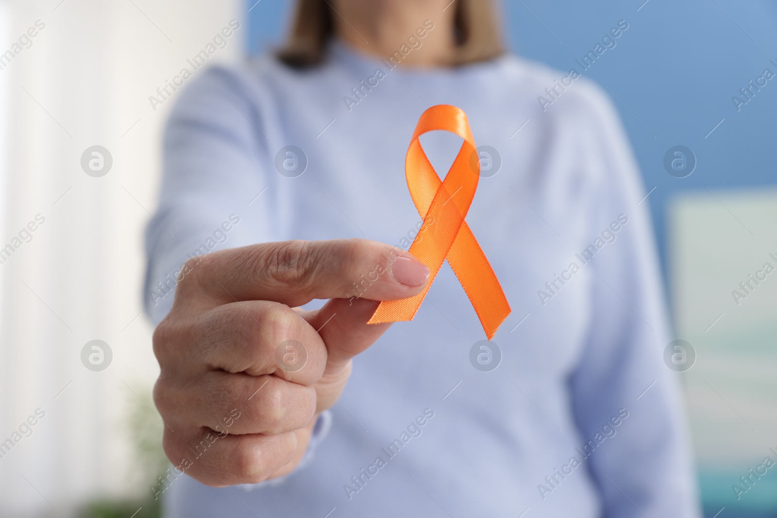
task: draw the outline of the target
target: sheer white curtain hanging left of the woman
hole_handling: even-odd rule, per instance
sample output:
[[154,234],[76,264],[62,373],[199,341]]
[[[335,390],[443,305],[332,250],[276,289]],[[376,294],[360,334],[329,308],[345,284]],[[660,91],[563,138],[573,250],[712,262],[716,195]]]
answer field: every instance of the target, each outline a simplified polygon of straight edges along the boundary
[[[0,516],[150,492],[135,483],[127,412],[145,408],[158,370],[142,232],[180,91],[156,110],[148,98],[232,19],[208,62],[237,59],[242,14],[238,0],[0,3]],[[113,158],[104,176],[82,169],[94,145]],[[82,363],[93,339],[113,353],[106,370]]]

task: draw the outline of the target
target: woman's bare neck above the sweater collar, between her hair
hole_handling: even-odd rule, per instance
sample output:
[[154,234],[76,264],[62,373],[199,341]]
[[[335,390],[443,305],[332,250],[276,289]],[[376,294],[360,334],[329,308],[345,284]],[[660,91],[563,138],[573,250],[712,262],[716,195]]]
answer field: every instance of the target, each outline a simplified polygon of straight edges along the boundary
[[[331,0],[330,5],[336,37],[349,47],[383,58],[400,52],[402,66],[434,67],[453,61],[456,5],[449,1]],[[413,51],[402,52],[403,45]]]

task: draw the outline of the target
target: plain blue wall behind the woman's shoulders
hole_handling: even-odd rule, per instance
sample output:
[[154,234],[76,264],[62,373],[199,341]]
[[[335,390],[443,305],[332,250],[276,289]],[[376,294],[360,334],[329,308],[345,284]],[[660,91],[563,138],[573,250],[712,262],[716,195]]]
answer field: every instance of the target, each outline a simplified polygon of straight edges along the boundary
[[[248,45],[257,52],[282,37],[293,2],[254,1],[246,5],[253,5]],[[643,2],[506,0],[503,16],[510,48],[561,71],[579,68],[575,59],[593,50],[618,20],[629,23],[617,46],[584,75],[617,97],[646,190],[656,186],[647,201],[665,265],[673,193],[777,183],[777,78],[738,112],[731,100],[765,68],[777,74],[769,62],[777,63],[777,2]],[[697,159],[685,178],[670,176],[663,165],[666,151],[678,144]]]

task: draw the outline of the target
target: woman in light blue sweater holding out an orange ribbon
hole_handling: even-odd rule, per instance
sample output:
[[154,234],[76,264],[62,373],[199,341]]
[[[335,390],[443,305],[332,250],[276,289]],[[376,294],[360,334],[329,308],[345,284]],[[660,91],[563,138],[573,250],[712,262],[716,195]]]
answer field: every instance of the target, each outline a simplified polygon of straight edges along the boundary
[[[495,20],[301,0],[277,56],[180,94],[148,227],[167,516],[698,516],[623,130],[584,79],[538,103],[562,75]],[[429,282],[391,245],[440,104],[489,146],[466,221],[514,312],[487,345],[447,264],[413,322],[366,324]],[[421,143],[444,176],[461,139]]]

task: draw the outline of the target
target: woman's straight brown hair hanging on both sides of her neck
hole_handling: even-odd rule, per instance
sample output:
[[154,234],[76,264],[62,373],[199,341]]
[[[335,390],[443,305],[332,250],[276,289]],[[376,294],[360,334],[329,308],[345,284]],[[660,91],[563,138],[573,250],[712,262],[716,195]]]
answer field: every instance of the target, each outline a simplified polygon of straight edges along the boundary
[[[456,51],[452,64],[488,61],[503,54],[502,31],[493,0],[455,2]],[[277,50],[280,61],[293,68],[321,64],[327,43],[334,37],[334,16],[329,0],[297,0],[291,31],[284,46]]]

